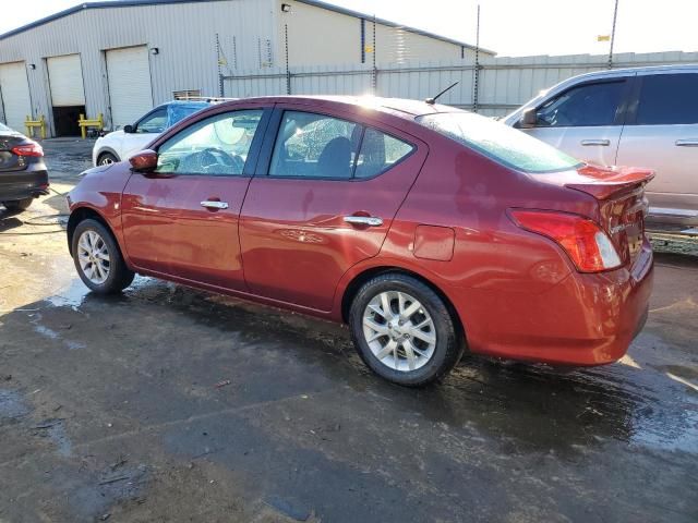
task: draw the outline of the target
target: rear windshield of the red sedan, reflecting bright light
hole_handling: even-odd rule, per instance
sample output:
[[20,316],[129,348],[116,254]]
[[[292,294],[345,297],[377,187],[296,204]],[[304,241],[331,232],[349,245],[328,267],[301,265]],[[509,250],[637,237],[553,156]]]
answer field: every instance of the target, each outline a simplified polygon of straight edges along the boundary
[[417,121],[518,171],[558,172],[581,166],[540,139],[471,112],[424,114]]

